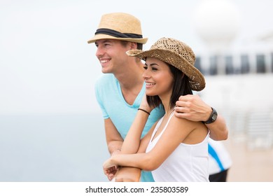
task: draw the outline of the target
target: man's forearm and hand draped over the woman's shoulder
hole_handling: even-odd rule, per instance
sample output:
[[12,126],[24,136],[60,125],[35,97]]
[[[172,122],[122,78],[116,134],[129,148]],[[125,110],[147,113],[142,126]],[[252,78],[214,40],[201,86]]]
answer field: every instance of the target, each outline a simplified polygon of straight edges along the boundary
[[[203,102],[198,95],[188,94],[179,97],[179,101],[176,102],[174,115],[178,118],[186,118],[192,121],[207,121],[211,116],[211,112],[211,106]],[[218,115],[214,123],[204,125],[211,131],[211,139],[216,141],[228,139],[228,127],[221,115]]]

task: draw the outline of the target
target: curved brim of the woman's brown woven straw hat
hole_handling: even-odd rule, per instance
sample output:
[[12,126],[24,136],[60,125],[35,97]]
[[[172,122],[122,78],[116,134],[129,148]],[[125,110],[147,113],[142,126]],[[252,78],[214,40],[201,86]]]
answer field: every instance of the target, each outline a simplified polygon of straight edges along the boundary
[[146,61],[147,57],[155,57],[163,62],[172,64],[177,69],[181,70],[188,76],[190,87],[192,90],[200,91],[206,86],[206,82],[202,73],[192,64],[186,61],[181,55],[176,54],[166,49],[151,49],[151,50],[129,50],[126,52],[131,57],[139,57]]

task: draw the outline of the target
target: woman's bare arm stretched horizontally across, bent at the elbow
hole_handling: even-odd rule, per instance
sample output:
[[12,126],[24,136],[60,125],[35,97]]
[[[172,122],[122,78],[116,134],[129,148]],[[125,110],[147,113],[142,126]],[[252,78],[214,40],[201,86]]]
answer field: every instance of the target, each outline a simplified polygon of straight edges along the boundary
[[[197,127],[196,125],[197,122],[191,122],[173,116],[165,132],[160,137],[158,144],[156,144],[150,152],[114,155],[104,162],[104,169],[107,171],[108,168],[116,167],[117,165],[124,167],[138,167],[146,171],[157,169],[177,148],[177,146],[179,146],[179,144],[188,137],[190,132],[195,130]],[[183,132],[180,130],[183,130]],[[202,139],[204,139],[203,135]]]

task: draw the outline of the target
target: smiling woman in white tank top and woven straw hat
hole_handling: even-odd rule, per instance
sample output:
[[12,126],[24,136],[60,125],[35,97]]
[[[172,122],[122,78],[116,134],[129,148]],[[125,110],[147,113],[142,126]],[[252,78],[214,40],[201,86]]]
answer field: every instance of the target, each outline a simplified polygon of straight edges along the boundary
[[[185,43],[160,38],[150,50],[130,50],[127,55],[146,61],[144,97],[125,138],[121,154],[104,162],[104,173],[116,167],[137,167],[152,171],[155,181],[209,181],[209,130],[202,122],[174,116],[180,95],[193,94],[205,87],[202,73],[194,67],[195,54]],[[163,106],[165,116],[141,139],[152,109]]]

